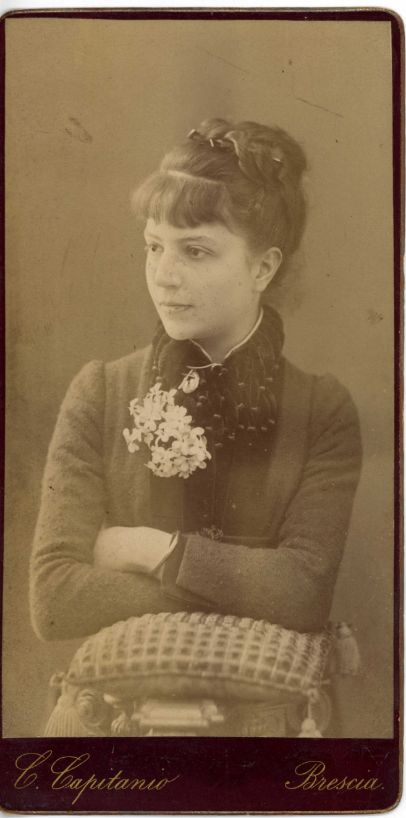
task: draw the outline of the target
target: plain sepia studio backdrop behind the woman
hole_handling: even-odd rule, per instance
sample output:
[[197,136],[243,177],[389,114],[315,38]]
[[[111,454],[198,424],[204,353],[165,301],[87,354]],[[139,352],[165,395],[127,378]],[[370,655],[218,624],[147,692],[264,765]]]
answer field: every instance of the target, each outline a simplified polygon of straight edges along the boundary
[[331,618],[352,623],[363,661],[346,681],[357,702],[347,735],[390,736],[390,23],[14,19],[6,47],[4,735],[39,734],[49,678],[82,641],[35,637],[28,560],[70,380],[144,345],[155,324],[131,189],[221,116],[278,124],[309,157],[300,275],[280,306],[285,352],[336,375],[359,409],[363,472]]

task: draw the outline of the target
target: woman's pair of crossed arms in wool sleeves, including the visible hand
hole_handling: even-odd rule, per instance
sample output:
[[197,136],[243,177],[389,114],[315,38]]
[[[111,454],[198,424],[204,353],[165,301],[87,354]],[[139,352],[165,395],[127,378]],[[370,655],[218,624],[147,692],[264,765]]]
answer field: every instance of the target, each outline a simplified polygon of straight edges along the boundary
[[[96,381],[90,394],[100,388]],[[31,561],[38,635],[73,638],[129,616],[185,609],[302,631],[323,627],[360,468],[358,419],[343,387],[332,390],[319,379],[301,484],[277,542],[254,544],[182,532],[173,540],[145,527],[102,529],[100,423],[93,402],[77,399],[79,386],[75,400],[72,393],[65,400],[44,477]]]

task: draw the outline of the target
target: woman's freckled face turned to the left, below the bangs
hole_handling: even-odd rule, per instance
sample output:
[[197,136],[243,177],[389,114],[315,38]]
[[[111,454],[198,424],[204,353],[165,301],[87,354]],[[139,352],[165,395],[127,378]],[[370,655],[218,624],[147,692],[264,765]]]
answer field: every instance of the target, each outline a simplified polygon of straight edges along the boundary
[[200,343],[221,361],[252,329],[265,289],[261,261],[223,224],[174,227],[148,219],[146,276],[171,338]]

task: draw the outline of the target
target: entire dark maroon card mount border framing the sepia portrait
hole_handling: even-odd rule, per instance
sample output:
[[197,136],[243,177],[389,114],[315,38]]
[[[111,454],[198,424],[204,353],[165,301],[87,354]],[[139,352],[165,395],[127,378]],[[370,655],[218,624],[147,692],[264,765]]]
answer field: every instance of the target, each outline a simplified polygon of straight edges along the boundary
[[[393,808],[401,793],[401,649],[400,612],[403,607],[401,571],[402,532],[402,229],[403,229],[403,61],[404,31],[400,18],[379,9],[364,10],[238,10],[233,9],[93,9],[9,12],[0,20],[0,183],[4,187],[5,149],[5,21],[17,18],[80,18],[105,20],[145,19],[262,19],[262,20],[351,20],[390,22],[392,32],[393,79],[393,212],[394,212],[394,324],[395,324],[395,684],[393,739],[277,739],[277,738],[150,738],[143,739],[1,739],[0,805],[19,812],[97,812],[97,813],[354,813],[386,811]],[[3,208],[4,213],[4,208]],[[5,226],[0,226],[1,317],[5,326],[4,259]],[[1,485],[4,486],[4,333],[0,346],[1,390],[0,462]],[[3,509],[1,508],[1,514]],[[2,571],[2,564],[1,569]],[[0,585],[0,595],[2,583]],[[1,708],[0,708],[1,714]],[[51,788],[52,776],[44,762],[37,768],[38,778],[25,789],[16,789],[18,775],[15,762],[25,753],[52,750],[52,759],[64,755],[89,753],[88,762],[77,775],[108,777],[123,770],[123,777],[151,778],[165,775],[179,778],[162,791],[87,790],[72,808],[75,793]],[[285,781],[298,780],[295,767],[304,761],[320,760],[326,765],[326,777],[342,779],[378,778],[382,786],[374,791],[287,789]],[[161,768],[164,772],[161,772]]]

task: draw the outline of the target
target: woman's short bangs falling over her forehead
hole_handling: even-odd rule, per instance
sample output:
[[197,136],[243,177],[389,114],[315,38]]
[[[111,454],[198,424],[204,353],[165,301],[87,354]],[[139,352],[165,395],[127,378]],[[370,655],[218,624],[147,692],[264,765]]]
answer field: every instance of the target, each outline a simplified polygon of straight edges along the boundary
[[231,228],[231,202],[226,186],[201,176],[178,171],[158,171],[149,176],[131,198],[140,219],[174,227],[197,227],[222,222]]

